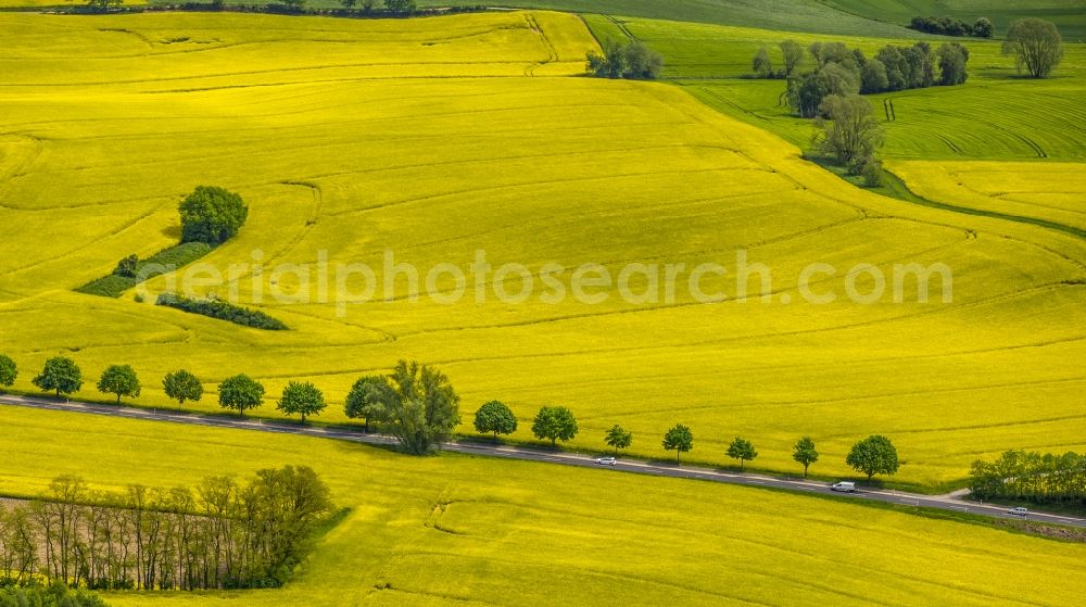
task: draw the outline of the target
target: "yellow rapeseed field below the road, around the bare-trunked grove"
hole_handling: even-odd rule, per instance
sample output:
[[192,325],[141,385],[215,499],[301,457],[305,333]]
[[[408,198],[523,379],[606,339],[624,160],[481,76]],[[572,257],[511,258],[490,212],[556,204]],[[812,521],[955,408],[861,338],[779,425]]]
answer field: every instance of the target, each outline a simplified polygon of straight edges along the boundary
[[1086,592],[1081,544],[845,501],[17,407],[0,428],[4,493],[60,473],[123,490],[291,463],[351,508],[283,589],[106,597],[119,607],[1072,606]]

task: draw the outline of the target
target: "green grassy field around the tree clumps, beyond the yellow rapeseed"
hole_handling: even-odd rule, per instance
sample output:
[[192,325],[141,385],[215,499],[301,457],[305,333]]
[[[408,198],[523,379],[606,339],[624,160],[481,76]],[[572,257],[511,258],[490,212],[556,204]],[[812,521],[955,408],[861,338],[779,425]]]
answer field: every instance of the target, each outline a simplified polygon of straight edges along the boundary
[[[1086,13],[1084,13],[1086,14]],[[643,40],[667,60],[665,77],[717,110],[770,130],[797,146],[811,136],[809,121],[783,104],[783,80],[748,79],[750,61],[768,47],[793,39],[842,41],[869,56],[887,43],[912,40],[828,36],[691,24],[644,18],[586,16],[597,38]],[[620,28],[621,27],[621,28]],[[970,78],[963,86],[932,87],[866,98],[883,115],[893,100],[896,121],[886,128],[886,157],[918,160],[1074,160],[1086,159],[1086,46],[1068,43],[1055,77],[1020,78],[1014,60],[999,41],[961,40],[970,49]],[[942,43],[932,40],[933,46]],[[811,59],[808,56],[807,61]]]

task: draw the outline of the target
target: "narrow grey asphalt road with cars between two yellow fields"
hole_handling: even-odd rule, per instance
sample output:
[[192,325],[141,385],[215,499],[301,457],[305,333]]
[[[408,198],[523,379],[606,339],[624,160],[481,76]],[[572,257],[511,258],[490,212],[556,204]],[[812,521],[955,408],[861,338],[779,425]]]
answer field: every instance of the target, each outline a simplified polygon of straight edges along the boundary
[[[3,395],[0,396],[0,404],[30,407],[36,409],[48,409],[59,412],[86,413],[93,415],[104,415],[111,417],[125,417],[129,419],[144,419],[152,421],[173,421],[176,423],[189,423],[193,426],[211,426],[214,428],[232,428],[240,430],[256,430],[260,432],[278,432],[282,434],[299,434],[304,437],[317,437],[324,439],[337,439],[353,441],[357,443],[389,445],[395,441],[390,437],[379,434],[366,434],[359,431],[344,430],[338,428],[321,428],[316,426],[295,426],[279,423],[263,419],[252,418],[229,418],[222,416],[209,416],[191,413],[171,412],[168,409],[144,409],[137,407],[117,407],[109,405],[96,405],[90,403],[47,401],[28,396]],[[677,467],[673,465],[656,464],[641,459],[619,459],[614,466],[602,466],[596,463],[595,456],[580,455],[573,453],[548,452],[531,447],[516,447],[505,445],[487,445],[468,441],[445,443],[442,448],[454,453],[465,453],[471,455],[484,455],[490,457],[506,457],[509,459],[526,459],[530,461],[545,461],[550,464],[563,464],[566,466],[582,466],[585,468],[606,468],[606,470],[634,472],[639,475],[654,475],[658,477],[671,477],[678,479],[697,479],[715,482],[727,482],[747,486],[762,486],[783,489],[797,493],[815,493],[823,495],[847,496],[851,499],[871,499],[887,504],[898,504],[901,506],[937,508],[940,510],[955,510],[959,513],[970,513],[998,518],[1019,519],[1021,517],[1011,515],[1003,506],[988,506],[974,502],[964,502],[950,495],[921,495],[918,493],[906,493],[892,490],[860,490],[856,493],[837,493],[830,489],[824,482],[808,481],[803,479],[783,479],[768,477],[756,473],[740,473],[716,470],[712,468],[699,467]],[[1086,528],[1086,518],[1052,515],[1038,511],[1030,511],[1028,520],[1066,524],[1072,527]]]

